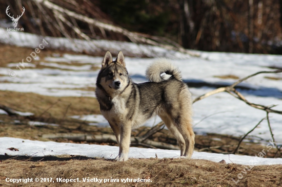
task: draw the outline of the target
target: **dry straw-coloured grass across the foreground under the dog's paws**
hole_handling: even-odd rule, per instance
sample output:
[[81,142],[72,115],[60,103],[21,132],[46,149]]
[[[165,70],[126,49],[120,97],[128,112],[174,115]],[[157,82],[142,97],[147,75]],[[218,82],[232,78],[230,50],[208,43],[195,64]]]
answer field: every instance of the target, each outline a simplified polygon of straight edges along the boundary
[[[0,156],[0,185],[17,186],[280,186],[282,166],[255,166],[246,174],[246,166],[226,165],[199,159],[129,159],[115,162],[79,156],[17,157]],[[235,185],[237,175],[243,178]],[[55,182],[12,184],[6,178],[53,178]],[[55,178],[119,179],[119,182],[59,183]],[[120,179],[150,178],[152,182],[127,182]]]

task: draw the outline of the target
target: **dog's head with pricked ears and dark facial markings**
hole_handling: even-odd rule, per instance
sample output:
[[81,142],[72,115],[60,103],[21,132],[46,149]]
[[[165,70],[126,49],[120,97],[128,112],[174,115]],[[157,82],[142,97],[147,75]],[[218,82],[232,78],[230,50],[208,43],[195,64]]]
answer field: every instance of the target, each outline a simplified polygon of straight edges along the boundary
[[125,59],[121,51],[118,53],[115,61],[112,60],[110,52],[106,53],[97,83],[103,86],[108,93],[122,91],[129,84]]

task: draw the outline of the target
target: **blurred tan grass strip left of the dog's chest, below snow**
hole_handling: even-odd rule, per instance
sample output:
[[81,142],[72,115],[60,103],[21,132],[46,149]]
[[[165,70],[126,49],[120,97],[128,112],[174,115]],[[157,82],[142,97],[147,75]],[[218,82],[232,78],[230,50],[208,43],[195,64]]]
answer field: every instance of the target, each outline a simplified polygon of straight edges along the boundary
[[[91,88],[83,88],[89,89]],[[93,88],[92,88],[93,89]],[[36,93],[1,91],[1,104],[22,112],[32,112],[36,116],[63,118],[66,115],[99,114],[100,109],[96,98],[90,97],[51,97]],[[70,106],[69,106],[70,105]],[[69,107],[68,107],[69,106]]]

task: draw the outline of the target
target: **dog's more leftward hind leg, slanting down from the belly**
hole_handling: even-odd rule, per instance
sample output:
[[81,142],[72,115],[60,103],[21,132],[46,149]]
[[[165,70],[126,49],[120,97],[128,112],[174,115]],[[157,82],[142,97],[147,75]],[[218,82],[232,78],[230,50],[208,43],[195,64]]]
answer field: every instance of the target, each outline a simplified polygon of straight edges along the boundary
[[182,136],[182,134],[178,131],[176,126],[173,124],[172,120],[168,117],[168,115],[163,114],[159,115],[159,117],[163,120],[163,122],[166,124],[167,128],[170,130],[170,132],[174,135],[174,137],[177,139],[177,142],[180,147],[180,156],[183,156],[185,153],[185,140]]

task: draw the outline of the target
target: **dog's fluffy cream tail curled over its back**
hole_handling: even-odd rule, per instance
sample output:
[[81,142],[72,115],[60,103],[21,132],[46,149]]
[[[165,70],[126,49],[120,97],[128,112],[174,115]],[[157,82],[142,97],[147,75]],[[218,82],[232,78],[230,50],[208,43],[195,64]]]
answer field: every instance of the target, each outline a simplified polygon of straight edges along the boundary
[[150,64],[146,70],[146,77],[151,82],[162,82],[170,77],[182,80],[180,70],[166,58],[159,58]]

